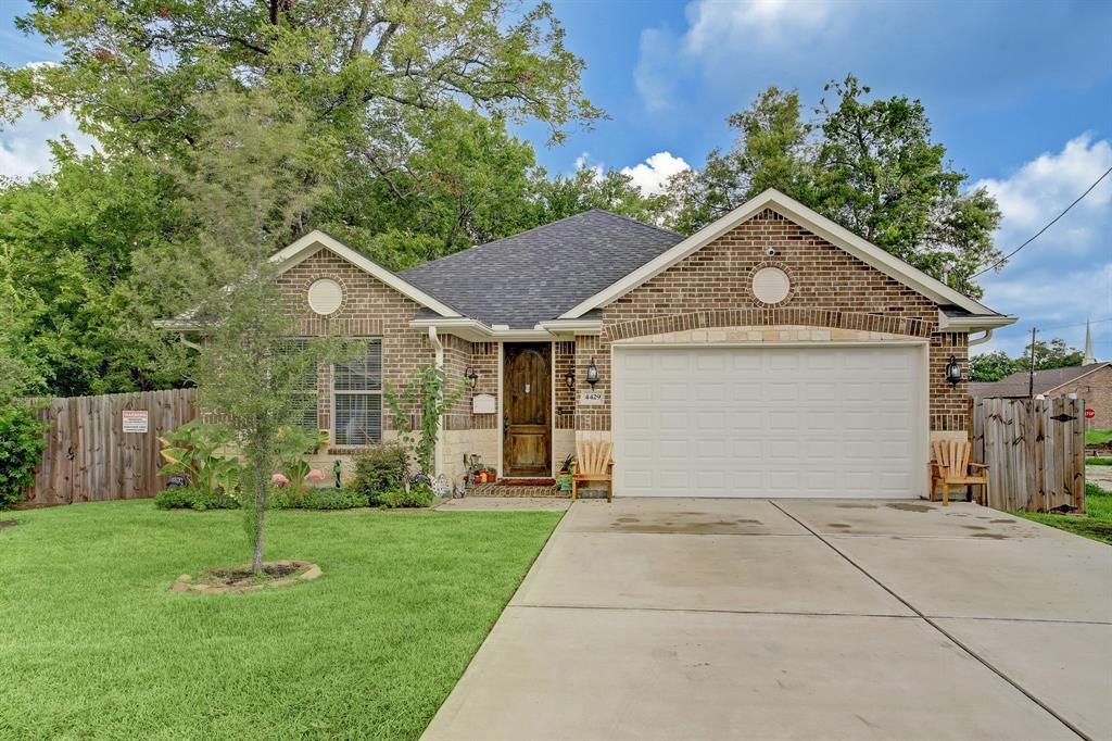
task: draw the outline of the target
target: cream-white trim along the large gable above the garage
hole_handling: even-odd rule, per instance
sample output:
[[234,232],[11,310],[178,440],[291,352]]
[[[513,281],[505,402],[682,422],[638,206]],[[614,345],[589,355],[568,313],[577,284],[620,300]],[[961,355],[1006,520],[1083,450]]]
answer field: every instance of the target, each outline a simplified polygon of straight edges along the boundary
[[643,283],[654,278],[679,260],[697,251],[708,243],[726,234],[738,224],[759,214],[765,208],[775,210],[805,229],[818,235],[826,241],[841,247],[861,261],[871,265],[894,280],[898,280],[937,304],[953,304],[972,314],[992,315],[996,313],[979,304],[972,298],[954,290],[941,280],[936,280],[922,270],[907,265],[897,257],[890,255],[880,247],[865,241],[848,229],[831,221],[825,216],[807,208],[794,198],[770,188],[761,195],[742,204],[717,221],[709,224],[687,237],[672,249],[662,253],[654,259],[641,266],[622,279],[610,284],[590,298],[577,304],[560,315],[562,319],[575,319],[590,309],[609,304],[619,296],[633,290]]

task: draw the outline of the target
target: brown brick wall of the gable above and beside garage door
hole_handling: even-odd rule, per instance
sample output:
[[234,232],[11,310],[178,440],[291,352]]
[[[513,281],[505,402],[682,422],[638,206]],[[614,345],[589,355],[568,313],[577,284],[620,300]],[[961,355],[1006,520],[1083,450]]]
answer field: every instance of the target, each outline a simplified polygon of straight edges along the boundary
[[[775,255],[770,256],[772,248]],[[792,283],[767,306],[752,275],[775,266]],[[932,431],[966,425],[967,384],[951,387],[942,368],[953,354],[966,362],[966,336],[936,333],[939,310],[917,292],[862,263],[771,209],[754,216],[603,309],[603,335],[583,337],[577,365],[598,365],[605,404],[576,415],[576,428],[609,429],[610,344],[649,335],[726,327],[813,326],[930,339]],[[579,389],[586,389],[583,374]]]

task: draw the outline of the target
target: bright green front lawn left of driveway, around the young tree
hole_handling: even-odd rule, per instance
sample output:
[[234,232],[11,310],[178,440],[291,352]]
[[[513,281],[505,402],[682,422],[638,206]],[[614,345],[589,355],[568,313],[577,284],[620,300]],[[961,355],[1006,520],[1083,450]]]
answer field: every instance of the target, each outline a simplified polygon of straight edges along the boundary
[[560,513],[275,512],[315,582],[171,593],[247,561],[239,512],[0,513],[0,739],[415,739]]

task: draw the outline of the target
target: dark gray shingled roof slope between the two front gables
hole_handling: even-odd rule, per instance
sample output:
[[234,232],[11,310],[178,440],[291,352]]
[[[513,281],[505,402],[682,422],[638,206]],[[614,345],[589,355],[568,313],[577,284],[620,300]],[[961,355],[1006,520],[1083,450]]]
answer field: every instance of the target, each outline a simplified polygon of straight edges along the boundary
[[595,209],[400,275],[487,325],[532,329],[683,240],[675,231]]

